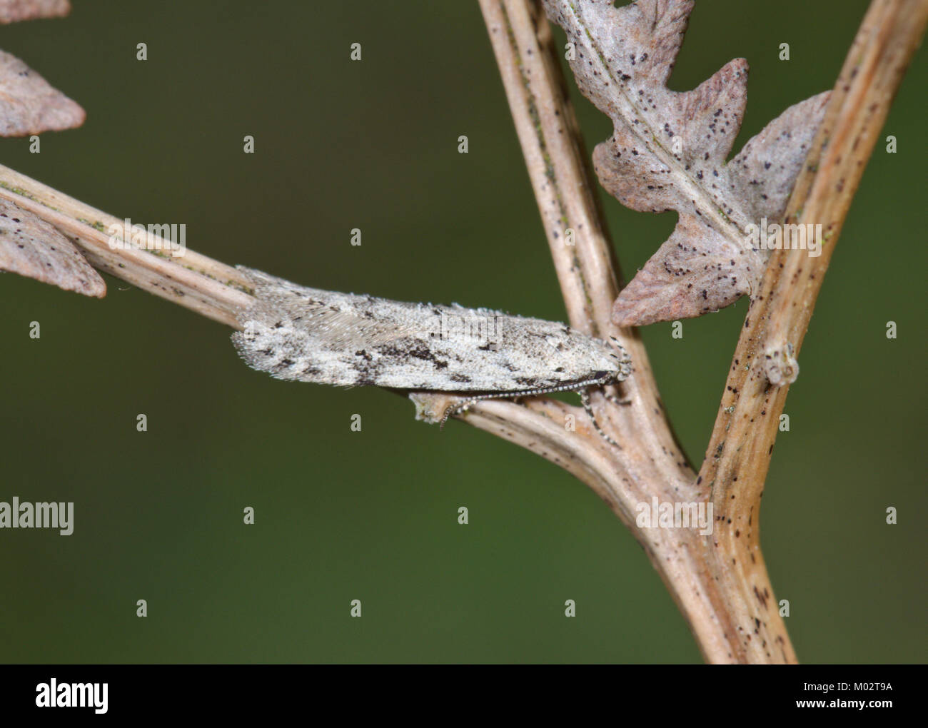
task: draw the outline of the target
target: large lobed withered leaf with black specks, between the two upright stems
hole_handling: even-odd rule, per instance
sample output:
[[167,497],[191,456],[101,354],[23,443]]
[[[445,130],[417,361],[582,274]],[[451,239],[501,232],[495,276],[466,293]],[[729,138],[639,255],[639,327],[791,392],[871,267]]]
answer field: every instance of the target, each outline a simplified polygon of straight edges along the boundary
[[693,0],[544,5],[574,44],[578,87],[613,122],[612,138],[593,153],[599,182],[632,210],[679,214],[615,300],[612,320],[699,316],[756,290],[771,250],[752,241],[749,225],[780,223],[829,93],[786,109],[726,163],[747,100],[747,61],[729,61],[692,91],[666,87]]

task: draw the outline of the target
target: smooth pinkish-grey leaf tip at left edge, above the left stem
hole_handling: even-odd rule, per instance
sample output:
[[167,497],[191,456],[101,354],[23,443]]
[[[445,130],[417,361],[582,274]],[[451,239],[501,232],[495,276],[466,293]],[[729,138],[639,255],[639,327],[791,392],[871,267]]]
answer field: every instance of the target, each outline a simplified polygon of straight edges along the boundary
[[72,129],[85,116],[84,109],[18,57],[0,51],[0,136]]

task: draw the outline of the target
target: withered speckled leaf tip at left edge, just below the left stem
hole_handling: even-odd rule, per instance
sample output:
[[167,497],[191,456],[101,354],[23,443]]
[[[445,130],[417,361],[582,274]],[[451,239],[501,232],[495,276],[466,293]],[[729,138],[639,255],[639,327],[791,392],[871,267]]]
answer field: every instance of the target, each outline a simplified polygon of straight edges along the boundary
[[0,198],[0,271],[18,273],[84,296],[103,298],[107,285],[53,225]]

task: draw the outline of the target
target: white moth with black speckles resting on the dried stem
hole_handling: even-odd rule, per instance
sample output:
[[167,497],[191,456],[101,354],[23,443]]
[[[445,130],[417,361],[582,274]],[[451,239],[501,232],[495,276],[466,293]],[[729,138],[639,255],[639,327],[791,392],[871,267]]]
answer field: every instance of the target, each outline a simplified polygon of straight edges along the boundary
[[[238,266],[254,302],[232,335],[253,369],[343,387],[460,392],[442,418],[484,399],[581,393],[631,373],[625,349],[563,324],[453,304],[406,303],[299,286]],[[469,396],[470,395],[470,396]]]

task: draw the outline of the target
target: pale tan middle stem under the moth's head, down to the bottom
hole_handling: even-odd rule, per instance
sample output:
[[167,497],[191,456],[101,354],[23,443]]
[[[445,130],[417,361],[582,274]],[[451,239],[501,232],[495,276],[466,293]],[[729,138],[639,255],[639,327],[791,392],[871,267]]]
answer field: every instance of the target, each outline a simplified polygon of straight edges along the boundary
[[[603,428],[622,445],[610,448],[587,424],[582,410],[560,402],[475,405],[465,419],[521,444],[564,467],[597,492],[635,534],[690,623],[703,656],[713,662],[790,661],[792,647],[779,617],[765,617],[769,639],[743,634],[754,621],[719,588],[712,537],[696,529],[638,528],[636,505],[706,503],[709,489],[696,482],[666,418],[647,353],[632,330],[609,323],[617,271],[604,230],[589,157],[567,100],[548,21],[533,0],[481,0],[509,106],[561,280],[572,326],[593,335],[614,334],[632,355],[635,374],[622,386],[625,405],[599,400]],[[574,246],[564,231],[574,230]],[[576,431],[565,428],[574,415]],[[759,555],[758,555],[759,557]],[[771,591],[769,585],[767,592]],[[785,645],[775,649],[774,645]]]

